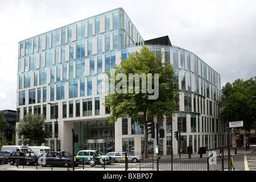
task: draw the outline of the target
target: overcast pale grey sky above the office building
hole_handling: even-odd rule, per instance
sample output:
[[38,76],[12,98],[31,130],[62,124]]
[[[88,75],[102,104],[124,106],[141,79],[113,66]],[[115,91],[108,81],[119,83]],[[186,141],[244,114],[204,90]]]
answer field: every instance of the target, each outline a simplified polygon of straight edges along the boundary
[[256,76],[256,1],[1,1],[0,110],[16,110],[18,42],[122,7],[144,40],[168,35],[221,75]]

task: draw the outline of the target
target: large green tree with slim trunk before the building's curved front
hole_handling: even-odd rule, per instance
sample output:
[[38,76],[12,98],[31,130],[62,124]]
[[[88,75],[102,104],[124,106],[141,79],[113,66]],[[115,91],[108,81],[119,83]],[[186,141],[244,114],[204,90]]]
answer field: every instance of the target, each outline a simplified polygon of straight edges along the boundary
[[174,114],[179,92],[174,86],[177,77],[172,65],[162,63],[162,59],[163,54],[155,56],[143,46],[140,53],[129,53],[126,60],[115,66],[114,72],[106,72],[110,90],[104,105],[110,110],[110,122],[143,113],[139,124],[144,125],[144,158],[148,158],[147,115],[163,119],[164,115]]

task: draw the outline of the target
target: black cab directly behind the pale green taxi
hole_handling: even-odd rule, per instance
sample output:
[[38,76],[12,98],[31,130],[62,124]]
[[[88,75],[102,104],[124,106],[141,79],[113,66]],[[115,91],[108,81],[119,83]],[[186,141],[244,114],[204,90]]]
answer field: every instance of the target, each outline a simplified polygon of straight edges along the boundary
[[[46,152],[39,159],[42,162],[42,166],[46,167],[47,165],[52,166],[63,166],[68,167],[73,166],[73,156],[69,152]],[[76,158],[75,166],[79,166],[80,159]]]

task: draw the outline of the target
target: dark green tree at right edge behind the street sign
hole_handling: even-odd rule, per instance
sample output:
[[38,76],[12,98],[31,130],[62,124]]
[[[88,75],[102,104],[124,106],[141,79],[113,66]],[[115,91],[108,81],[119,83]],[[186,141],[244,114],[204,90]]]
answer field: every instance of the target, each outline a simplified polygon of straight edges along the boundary
[[222,121],[243,121],[243,129],[250,131],[256,127],[256,76],[243,81],[237,79],[222,88],[218,101],[219,117]]

